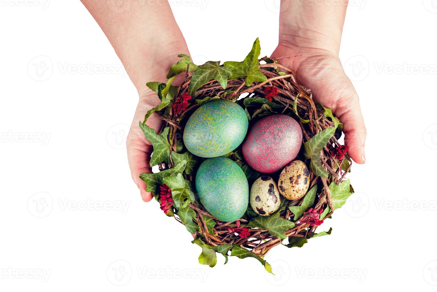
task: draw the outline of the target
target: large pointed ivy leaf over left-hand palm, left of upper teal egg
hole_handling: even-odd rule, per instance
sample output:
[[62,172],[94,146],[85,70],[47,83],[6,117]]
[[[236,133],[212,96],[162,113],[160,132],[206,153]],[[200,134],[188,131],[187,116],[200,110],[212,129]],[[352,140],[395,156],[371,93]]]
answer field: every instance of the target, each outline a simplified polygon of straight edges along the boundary
[[156,131],[144,123],[139,123],[146,139],[153,145],[153,153],[150,157],[150,167],[157,165],[163,161],[170,163],[170,145],[168,144],[167,136],[170,127],[166,127],[160,135]]

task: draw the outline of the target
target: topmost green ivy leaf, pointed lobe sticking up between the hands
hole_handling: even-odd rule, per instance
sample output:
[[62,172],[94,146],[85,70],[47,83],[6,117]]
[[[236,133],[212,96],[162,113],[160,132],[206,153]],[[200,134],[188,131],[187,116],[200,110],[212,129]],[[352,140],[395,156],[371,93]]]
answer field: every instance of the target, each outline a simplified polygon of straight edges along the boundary
[[253,42],[252,50],[244,58],[243,62],[228,61],[223,63],[225,67],[231,70],[229,79],[246,78],[246,86],[250,86],[253,82],[267,81],[267,77],[258,69],[260,62],[258,57],[261,53],[260,40],[257,38]]

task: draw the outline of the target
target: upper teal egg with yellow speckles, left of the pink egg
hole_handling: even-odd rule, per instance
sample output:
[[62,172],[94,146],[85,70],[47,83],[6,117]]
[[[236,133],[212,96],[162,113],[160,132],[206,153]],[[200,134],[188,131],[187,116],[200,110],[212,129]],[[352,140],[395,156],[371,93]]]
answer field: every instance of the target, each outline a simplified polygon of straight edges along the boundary
[[200,157],[222,156],[243,142],[248,126],[241,106],[229,100],[213,100],[200,106],[188,119],[184,144]]

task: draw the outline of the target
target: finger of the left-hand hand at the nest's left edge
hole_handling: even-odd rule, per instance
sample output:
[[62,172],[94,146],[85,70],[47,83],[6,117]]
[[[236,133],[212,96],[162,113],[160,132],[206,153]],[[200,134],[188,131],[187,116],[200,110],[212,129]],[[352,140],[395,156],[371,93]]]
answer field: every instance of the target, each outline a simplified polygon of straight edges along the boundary
[[[129,133],[129,136],[132,135],[134,134]],[[140,179],[139,175],[143,172],[152,172],[152,168],[149,165],[149,153],[152,151],[151,146],[147,145],[144,141],[137,139],[136,137],[128,137],[127,151],[132,179],[140,190],[142,200],[148,202],[152,200],[153,195],[151,192],[146,191],[146,183]]]

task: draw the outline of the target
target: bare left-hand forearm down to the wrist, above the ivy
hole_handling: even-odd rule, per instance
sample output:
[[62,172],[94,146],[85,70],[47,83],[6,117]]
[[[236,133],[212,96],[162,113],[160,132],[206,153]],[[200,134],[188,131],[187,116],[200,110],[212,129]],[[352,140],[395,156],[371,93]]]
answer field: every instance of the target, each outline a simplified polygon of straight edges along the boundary
[[124,12],[114,12],[108,1],[81,1],[111,42],[140,95],[147,81],[165,82],[166,70],[177,62],[177,54],[188,53],[167,1],[132,1]]

